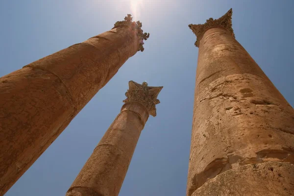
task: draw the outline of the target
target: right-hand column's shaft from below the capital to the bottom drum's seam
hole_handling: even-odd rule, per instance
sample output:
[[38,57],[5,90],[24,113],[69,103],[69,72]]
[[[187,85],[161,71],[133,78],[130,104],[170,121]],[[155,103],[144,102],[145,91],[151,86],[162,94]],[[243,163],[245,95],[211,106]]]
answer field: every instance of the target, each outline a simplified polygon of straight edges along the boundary
[[187,196],[251,163],[294,163],[294,110],[223,27],[199,40]]

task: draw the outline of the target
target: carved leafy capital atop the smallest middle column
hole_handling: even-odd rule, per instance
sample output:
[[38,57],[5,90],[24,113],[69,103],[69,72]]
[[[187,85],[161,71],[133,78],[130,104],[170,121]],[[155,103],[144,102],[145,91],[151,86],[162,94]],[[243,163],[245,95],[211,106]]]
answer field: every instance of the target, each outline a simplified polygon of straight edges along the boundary
[[155,117],[155,105],[160,103],[160,101],[157,99],[157,96],[162,88],[163,86],[148,86],[147,82],[143,82],[143,84],[138,84],[134,81],[129,81],[129,89],[125,93],[125,96],[127,98],[124,99],[123,102],[139,102],[147,108],[149,115]]

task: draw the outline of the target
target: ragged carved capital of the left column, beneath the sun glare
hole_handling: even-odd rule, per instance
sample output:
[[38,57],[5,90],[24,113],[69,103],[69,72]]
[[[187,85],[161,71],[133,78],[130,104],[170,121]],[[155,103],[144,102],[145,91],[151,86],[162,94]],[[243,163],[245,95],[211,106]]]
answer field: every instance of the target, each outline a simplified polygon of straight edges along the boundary
[[117,28],[120,26],[128,26],[131,27],[132,30],[136,30],[137,31],[137,35],[140,41],[139,47],[138,47],[138,51],[143,52],[144,51],[144,41],[143,40],[147,40],[149,38],[149,33],[143,33],[142,28],[142,23],[140,21],[137,22],[132,22],[133,18],[131,14],[128,14],[126,17],[124,17],[124,21],[117,21],[114,24],[113,28]]

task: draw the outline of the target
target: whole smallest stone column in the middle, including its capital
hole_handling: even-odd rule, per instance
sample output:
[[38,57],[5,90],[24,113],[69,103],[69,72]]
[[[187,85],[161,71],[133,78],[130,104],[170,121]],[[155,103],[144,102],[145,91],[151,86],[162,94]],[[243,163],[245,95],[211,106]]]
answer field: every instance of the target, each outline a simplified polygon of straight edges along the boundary
[[66,196],[118,196],[141,131],[163,87],[130,81],[121,113],[79,172]]

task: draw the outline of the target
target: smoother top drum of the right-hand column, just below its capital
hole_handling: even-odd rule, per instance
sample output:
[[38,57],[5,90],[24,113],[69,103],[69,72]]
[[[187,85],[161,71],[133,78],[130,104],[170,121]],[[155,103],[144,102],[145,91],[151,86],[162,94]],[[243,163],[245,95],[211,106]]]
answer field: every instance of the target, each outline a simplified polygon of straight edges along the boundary
[[230,32],[219,27],[207,30],[198,52],[197,91],[203,91],[208,84],[220,77],[237,73],[253,74],[269,80]]

